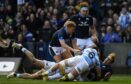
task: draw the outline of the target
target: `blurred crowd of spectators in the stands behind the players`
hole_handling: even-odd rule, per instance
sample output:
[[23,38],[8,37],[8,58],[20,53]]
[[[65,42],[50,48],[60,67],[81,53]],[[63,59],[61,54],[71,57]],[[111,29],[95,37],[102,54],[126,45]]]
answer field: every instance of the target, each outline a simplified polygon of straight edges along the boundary
[[100,43],[131,42],[130,0],[0,0],[0,31],[17,42],[49,42],[64,22],[89,4]]

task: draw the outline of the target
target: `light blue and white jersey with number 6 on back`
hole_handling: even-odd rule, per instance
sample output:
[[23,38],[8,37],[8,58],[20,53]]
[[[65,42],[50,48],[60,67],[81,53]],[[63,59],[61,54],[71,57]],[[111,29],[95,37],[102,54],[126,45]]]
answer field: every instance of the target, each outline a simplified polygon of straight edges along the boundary
[[90,68],[93,68],[94,66],[100,66],[98,52],[95,49],[92,48],[84,49],[82,56],[89,64]]

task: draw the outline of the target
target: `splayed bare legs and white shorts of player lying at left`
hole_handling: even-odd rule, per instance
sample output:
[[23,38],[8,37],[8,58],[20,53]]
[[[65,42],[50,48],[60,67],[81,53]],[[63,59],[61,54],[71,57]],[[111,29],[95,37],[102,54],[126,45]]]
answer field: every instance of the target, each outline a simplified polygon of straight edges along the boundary
[[45,70],[48,70],[51,66],[55,65],[55,62],[51,62],[51,61],[46,61],[46,60],[39,60],[36,59],[34,57],[34,55],[27,50],[26,48],[24,48],[21,44],[18,43],[13,43],[12,44],[13,48],[19,49],[21,50],[25,56],[39,69],[41,69],[40,71],[33,73],[33,74],[29,74],[29,73],[15,73],[12,72],[10,73],[7,78],[11,78],[13,76],[19,77],[19,78],[25,78],[25,79],[36,79],[36,78],[41,78],[41,73],[43,73]]

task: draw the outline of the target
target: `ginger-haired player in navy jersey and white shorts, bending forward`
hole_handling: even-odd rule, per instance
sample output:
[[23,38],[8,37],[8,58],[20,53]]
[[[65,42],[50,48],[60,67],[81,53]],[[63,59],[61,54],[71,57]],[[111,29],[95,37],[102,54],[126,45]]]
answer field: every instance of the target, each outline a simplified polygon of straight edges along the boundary
[[65,59],[71,57],[71,52],[80,52],[74,36],[75,26],[73,21],[66,21],[64,26],[54,33],[49,51],[56,62],[61,61],[62,56]]

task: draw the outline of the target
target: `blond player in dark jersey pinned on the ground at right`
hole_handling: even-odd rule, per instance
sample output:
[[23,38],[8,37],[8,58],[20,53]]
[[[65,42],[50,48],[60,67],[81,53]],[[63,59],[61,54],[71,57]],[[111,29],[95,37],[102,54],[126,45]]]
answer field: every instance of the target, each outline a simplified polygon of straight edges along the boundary
[[[115,53],[110,53],[103,62],[101,62],[101,78],[99,80],[108,81],[112,75],[111,64],[114,62],[116,57]],[[94,69],[90,71],[90,74],[87,76],[91,81],[98,81],[96,79],[96,72]]]

